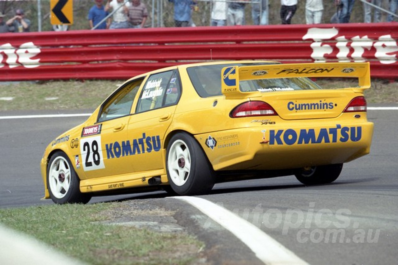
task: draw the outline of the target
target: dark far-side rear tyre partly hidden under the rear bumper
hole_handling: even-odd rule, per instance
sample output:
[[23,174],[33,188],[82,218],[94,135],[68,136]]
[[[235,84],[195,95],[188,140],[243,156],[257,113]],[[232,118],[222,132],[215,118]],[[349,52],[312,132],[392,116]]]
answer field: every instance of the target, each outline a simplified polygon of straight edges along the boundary
[[305,185],[326,184],[334,182],[339,177],[342,168],[343,164],[311,166],[302,168],[295,176]]

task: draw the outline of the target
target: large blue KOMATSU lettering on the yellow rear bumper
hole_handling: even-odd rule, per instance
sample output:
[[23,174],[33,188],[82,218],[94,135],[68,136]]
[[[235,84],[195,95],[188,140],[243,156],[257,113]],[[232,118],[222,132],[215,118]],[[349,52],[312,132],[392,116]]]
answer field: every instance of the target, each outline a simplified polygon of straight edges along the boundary
[[319,132],[314,129],[301,129],[296,132],[293,129],[269,130],[270,145],[294,145],[312,143],[345,143],[348,140],[357,142],[362,138],[362,127],[341,127],[336,124],[334,128],[321,128]]

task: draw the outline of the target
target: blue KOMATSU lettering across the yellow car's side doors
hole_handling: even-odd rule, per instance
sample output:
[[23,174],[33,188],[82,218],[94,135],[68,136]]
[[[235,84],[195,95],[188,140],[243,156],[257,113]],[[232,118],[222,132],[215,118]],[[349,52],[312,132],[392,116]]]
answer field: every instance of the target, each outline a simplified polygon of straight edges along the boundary
[[129,155],[138,155],[145,152],[158,152],[160,150],[160,136],[146,136],[142,133],[142,137],[133,139],[132,141],[121,141],[105,144],[107,159],[126,157]]

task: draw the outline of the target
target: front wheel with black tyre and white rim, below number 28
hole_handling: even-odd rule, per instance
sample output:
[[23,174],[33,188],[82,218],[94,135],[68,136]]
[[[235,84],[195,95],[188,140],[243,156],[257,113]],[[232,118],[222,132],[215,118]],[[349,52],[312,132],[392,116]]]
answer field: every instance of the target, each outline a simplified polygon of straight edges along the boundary
[[91,196],[80,192],[80,180],[64,152],[56,152],[47,167],[47,187],[57,204],[88,203]]

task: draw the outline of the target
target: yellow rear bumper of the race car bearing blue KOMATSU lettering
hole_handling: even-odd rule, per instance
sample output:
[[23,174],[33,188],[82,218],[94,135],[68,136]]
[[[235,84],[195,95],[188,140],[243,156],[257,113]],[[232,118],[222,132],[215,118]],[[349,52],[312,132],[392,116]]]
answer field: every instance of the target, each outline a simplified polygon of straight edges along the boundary
[[[296,125],[296,126],[295,126]],[[373,123],[275,124],[195,135],[215,170],[277,170],[349,162],[370,151]]]

